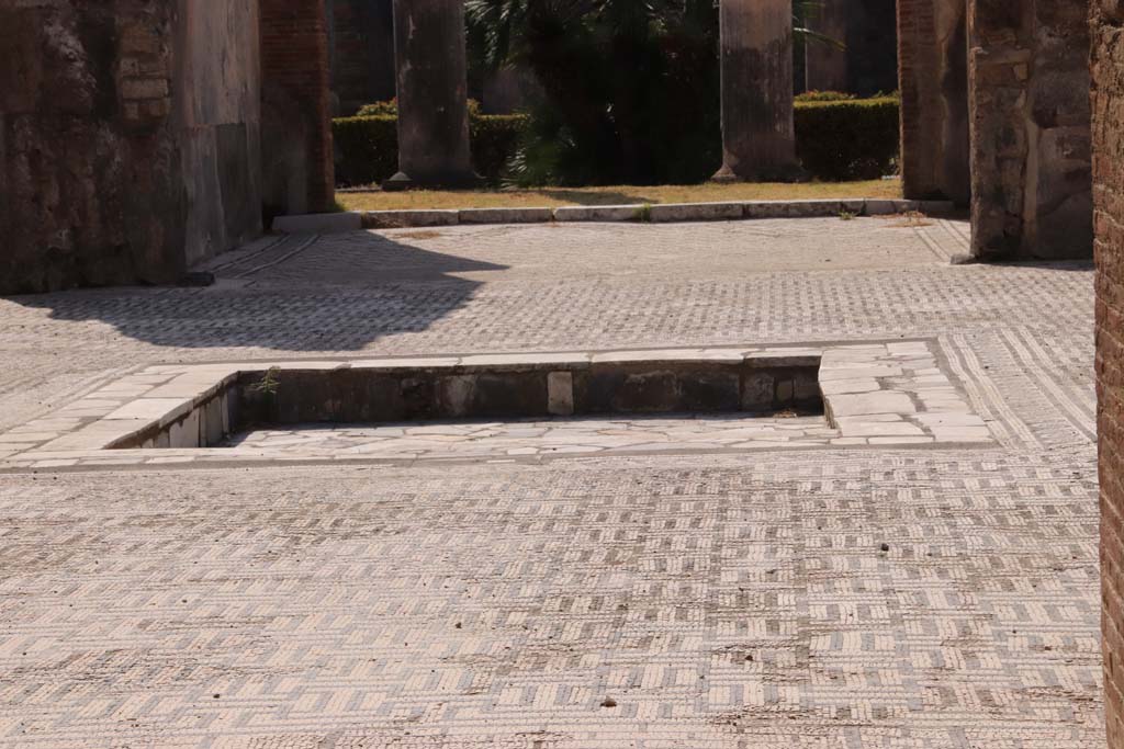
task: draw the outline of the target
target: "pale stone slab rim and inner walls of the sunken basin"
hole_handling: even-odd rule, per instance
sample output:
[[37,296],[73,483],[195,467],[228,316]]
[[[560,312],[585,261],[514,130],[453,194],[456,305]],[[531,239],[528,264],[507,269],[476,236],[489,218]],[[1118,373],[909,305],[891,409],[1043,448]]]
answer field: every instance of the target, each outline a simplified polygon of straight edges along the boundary
[[934,346],[894,340],[153,365],[0,435],[0,473],[269,459],[217,447],[253,423],[769,413],[813,400],[825,413],[821,433],[758,447],[995,445]]

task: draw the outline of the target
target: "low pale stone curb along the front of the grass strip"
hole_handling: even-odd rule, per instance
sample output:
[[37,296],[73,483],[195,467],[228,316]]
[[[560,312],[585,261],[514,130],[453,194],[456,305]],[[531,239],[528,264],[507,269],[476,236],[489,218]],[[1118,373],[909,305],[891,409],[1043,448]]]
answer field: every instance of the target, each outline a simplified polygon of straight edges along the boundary
[[359,229],[405,229],[486,223],[625,222],[674,223],[741,221],[747,219],[892,216],[919,211],[948,214],[944,200],[755,200],[713,203],[656,203],[653,205],[565,205],[562,208],[465,208],[461,210],[351,211],[283,216],[273,221],[279,234],[334,234]]

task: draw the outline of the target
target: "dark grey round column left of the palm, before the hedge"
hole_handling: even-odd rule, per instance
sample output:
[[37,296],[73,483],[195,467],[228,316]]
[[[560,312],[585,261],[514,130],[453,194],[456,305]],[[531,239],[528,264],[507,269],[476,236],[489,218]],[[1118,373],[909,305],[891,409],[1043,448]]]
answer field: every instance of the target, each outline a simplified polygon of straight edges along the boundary
[[463,0],[395,0],[398,174],[383,190],[472,188]]

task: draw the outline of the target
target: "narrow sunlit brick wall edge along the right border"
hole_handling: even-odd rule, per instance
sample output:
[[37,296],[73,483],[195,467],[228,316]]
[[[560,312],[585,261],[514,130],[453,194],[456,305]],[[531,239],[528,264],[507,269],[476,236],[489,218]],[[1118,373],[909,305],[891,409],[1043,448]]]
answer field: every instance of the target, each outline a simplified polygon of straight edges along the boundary
[[1093,3],[1100,566],[1108,746],[1124,747],[1124,11]]

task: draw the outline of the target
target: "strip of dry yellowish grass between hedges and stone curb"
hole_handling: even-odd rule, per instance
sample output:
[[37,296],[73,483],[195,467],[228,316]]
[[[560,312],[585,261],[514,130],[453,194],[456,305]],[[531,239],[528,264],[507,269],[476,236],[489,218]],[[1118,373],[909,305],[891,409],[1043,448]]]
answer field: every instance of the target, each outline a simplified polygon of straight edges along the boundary
[[816,200],[900,198],[899,180],[807,182],[800,184],[746,182],[649,188],[543,188],[538,190],[469,190],[411,192],[341,192],[336,200],[350,211],[391,211],[450,208],[558,208],[560,205],[654,205],[737,200]]

